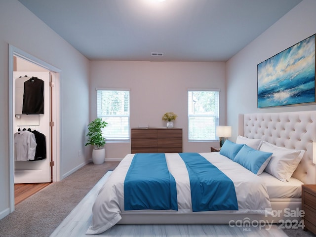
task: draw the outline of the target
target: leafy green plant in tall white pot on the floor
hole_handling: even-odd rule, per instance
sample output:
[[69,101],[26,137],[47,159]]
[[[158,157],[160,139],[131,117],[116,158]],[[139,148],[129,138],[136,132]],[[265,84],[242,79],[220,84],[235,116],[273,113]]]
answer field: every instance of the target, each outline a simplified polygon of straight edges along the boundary
[[[105,159],[105,139],[102,136],[102,128],[107,126],[107,122],[102,121],[101,118],[96,118],[88,124],[87,142],[85,146],[92,145],[96,148],[92,151],[92,161],[94,164],[102,164]],[[102,148],[101,148],[102,147]]]

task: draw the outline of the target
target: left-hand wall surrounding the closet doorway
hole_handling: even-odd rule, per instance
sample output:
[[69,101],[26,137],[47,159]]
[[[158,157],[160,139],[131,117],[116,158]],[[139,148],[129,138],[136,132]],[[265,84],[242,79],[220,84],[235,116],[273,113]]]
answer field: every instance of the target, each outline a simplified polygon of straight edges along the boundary
[[8,44],[59,68],[62,177],[84,164],[89,120],[89,61],[17,0],[0,0],[0,218],[9,212]]

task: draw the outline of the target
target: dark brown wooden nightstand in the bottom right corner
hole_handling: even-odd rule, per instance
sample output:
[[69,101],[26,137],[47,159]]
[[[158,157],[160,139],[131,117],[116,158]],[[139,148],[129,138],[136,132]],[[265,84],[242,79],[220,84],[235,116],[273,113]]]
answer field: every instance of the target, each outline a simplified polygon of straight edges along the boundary
[[302,185],[302,209],[305,212],[304,216],[304,231],[311,231],[316,234],[316,185]]

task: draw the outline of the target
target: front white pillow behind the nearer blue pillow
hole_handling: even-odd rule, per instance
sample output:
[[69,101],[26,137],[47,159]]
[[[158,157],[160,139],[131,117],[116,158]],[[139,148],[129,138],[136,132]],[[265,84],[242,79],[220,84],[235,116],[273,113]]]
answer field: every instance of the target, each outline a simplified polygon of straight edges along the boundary
[[287,182],[291,178],[305,153],[304,150],[291,150],[277,147],[265,141],[262,142],[260,151],[273,153],[264,171],[272,174],[283,182]]

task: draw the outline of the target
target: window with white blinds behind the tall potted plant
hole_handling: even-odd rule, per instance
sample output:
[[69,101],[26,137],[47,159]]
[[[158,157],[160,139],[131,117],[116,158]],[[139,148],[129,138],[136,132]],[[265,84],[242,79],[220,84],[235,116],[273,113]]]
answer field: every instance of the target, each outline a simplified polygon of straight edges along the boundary
[[129,90],[97,89],[97,115],[108,123],[102,130],[107,141],[129,140]]

